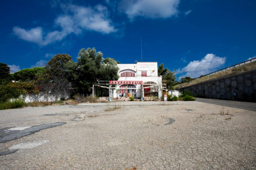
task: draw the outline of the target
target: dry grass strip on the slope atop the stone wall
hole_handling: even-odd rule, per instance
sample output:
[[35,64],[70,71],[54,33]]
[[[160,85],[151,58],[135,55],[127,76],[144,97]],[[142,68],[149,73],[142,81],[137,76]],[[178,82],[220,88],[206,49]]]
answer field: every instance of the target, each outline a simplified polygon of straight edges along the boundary
[[[256,69],[256,61],[244,64],[242,66],[238,66],[238,67],[235,67],[235,68],[231,68],[231,69],[228,69],[228,70],[225,70],[225,71],[221,71],[221,72],[215,73],[213,75],[204,76],[204,77],[192,80],[192,81],[187,82],[187,83],[180,84],[180,88],[184,88],[184,87],[191,86],[191,85],[194,85],[194,84],[198,84],[198,83],[201,83],[201,82],[205,82],[205,81],[208,81],[208,80],[214,80],[214,79],[219,79],[221,77],[226,77],[226,76],[229,76],[229,75],[243,73],[245,71],[250,71],[250,70],[254,70],[254,69]],[[179,88],[179,85],[174,86],[174,89],[178,89],[178,88]]]

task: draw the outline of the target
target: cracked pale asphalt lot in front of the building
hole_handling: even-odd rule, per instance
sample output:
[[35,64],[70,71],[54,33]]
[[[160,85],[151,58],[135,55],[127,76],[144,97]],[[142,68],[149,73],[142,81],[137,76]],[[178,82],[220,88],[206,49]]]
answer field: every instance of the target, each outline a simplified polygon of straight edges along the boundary
[[256,112],[144,103],[1,110],[0,170],[256,169]]

